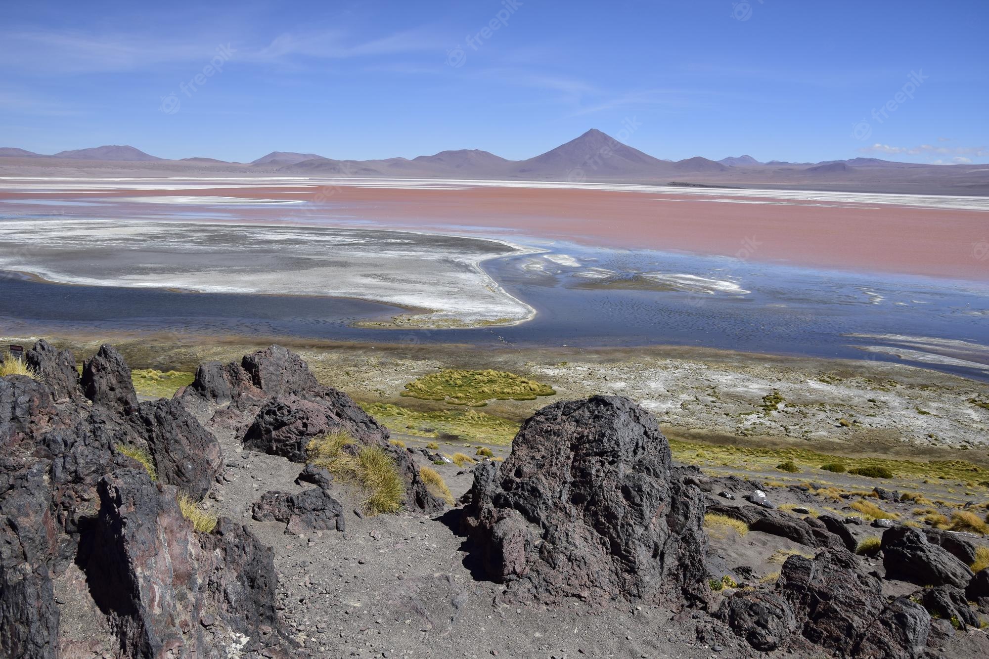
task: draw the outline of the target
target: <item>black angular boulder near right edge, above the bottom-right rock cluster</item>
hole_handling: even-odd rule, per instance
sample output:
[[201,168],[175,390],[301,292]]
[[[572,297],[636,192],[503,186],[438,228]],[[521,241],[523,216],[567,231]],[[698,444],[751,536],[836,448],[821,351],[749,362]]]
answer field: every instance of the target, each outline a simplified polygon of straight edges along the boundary
[[972,578],[968,566],[946,549],[928,542],[925,534],[910,526],[896,526],[882,534],[882,564],[887,579],[918,586],[964,588]]

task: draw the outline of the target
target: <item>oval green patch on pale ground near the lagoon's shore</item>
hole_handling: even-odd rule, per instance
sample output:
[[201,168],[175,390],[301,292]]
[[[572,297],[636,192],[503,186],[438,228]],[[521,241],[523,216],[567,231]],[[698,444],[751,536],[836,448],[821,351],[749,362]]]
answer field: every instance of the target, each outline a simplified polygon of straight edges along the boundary
[[540,396],[553,396],[549,385],[523,378],[508,371],[461,371],[444,368],[424,375],[405,385],[403,396],[424,401],[442,401],[449,405],[480,408],[488,401],[534,401]]

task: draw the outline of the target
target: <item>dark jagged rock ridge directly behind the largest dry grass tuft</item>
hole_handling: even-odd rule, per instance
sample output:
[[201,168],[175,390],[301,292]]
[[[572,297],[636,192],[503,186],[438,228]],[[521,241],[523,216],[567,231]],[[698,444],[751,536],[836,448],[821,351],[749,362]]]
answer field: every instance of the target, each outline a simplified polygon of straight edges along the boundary
[[406,508],[444,509],[408,454],[388,442],[388,428],[343,392],[320,385],[306,362],[280,345],[244,355],[239,363],[203,364],[175,399],[208,427],[232,432],[245,447],[300,463],[306,462],[312,439],[345,430],[360,444],[389,452],[405,480]]

